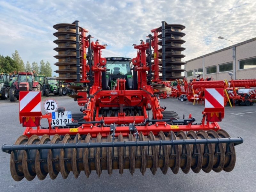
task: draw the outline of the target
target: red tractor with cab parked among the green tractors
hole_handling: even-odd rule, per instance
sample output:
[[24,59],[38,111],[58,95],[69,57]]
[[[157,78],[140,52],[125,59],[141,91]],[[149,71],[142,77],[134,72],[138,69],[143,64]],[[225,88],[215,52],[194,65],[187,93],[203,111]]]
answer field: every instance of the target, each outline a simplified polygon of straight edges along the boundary
[[10,101],[19,99],[20,91],[40,91],[40,85],[35,81],[32,72],[19,72],[17,81],[12,84],[9,90]]

